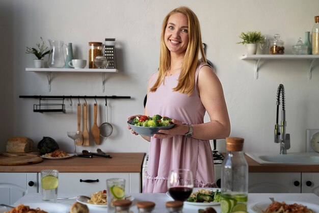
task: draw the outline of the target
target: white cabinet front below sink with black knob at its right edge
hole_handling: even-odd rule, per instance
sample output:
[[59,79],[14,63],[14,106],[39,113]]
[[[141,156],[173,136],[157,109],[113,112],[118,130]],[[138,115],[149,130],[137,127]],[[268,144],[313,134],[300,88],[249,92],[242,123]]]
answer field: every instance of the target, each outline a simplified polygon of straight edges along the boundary
[[252,172],[248,178],[249,193],[301,193],[300,172]]

